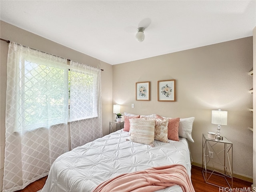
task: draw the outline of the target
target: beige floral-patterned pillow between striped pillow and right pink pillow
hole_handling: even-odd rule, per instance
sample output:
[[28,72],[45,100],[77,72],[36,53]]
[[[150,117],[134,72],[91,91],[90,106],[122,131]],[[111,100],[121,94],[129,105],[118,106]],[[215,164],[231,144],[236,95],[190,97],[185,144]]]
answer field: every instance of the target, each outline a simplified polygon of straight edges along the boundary
[[155,120],[155,136],[154,140],[168,142],[168,119],[161,118],[140,118],[145,120]]

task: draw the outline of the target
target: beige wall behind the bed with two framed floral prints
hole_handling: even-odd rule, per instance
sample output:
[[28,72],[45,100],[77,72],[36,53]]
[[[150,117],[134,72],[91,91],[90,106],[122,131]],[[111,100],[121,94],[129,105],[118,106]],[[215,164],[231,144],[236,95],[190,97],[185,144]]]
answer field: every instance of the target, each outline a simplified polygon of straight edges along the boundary
[[[113,104],[121,112],[195,117],[189,142],[202,162],[202,133],[216,131],[211,110],[228,111],[222,135],[233,142],[234,173],[252,178],[252,37],[113,66]],[[176,102],[157,101],[157,81],[176,79]],[[150,81],[150,101],[135,100],[135,83]],[[131,104],[134,103],[134,108]]]

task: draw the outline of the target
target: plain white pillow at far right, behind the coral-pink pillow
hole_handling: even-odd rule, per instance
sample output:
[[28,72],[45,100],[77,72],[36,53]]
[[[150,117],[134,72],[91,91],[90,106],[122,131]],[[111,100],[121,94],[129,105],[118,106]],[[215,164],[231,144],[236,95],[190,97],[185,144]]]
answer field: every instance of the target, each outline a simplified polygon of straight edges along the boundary
[[[163,118],[167,118],[167,117],[163,117]],[[180,125],[179,125],[179,136],[184,137],[193,143],[194,143],[194,140],[192,138],[192,128],[193,128],[194,119],[195,119],[194,117],[180,118]]]

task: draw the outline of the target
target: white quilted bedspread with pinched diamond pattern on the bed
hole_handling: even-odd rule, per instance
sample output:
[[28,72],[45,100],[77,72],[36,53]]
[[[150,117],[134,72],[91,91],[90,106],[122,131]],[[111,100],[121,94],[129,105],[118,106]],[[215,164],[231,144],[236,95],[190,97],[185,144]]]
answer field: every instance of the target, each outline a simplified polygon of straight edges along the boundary
[[[155,146],[126,141],[119,130],[59,156],[50,168],[42,192],[90,192],[101,182],[123,173],[168,164],[182,164],[191,176],[190,153],[185,138]],[[136,181],[134,181],[136,182]],[[172,186],[158,192],[182,192]]]

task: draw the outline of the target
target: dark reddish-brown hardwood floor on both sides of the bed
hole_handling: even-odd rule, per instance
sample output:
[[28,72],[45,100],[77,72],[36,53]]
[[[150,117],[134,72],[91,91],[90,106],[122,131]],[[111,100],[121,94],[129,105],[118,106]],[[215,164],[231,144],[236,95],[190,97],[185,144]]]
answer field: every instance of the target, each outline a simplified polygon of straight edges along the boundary
[[[192,174],[191,175],[192,184],[193,184],[196,192],[220,192],[220,191],[225,192],[224,189],[220,190],[219,187],[211,185],[211,184],[207,184],[204,182],[204,177],[202,175],[202,168],[197,167],[197,166],[192,166],[191,174]],[[46,178],[47,178],[47,176],[31,183],[23,190],[18,190],[17,192],[37,192],[44,186]],[[213,179],[216,180],[218,182],[218,185],[220,185],[220,186],[227,185],[224,180],[220,179],[220,176],[216,176],[216,178],[213,178]],[[233,178],[233,189],[237,188],[238,190],[232,190],[232,191],[241,191],[239,189],[242,189],[242,188],[246,188],[246,190],[243,190],[243,191],[250,191],[250,190],[248,190],[248,188],[250,188],[251,185],[252,185],[252,183],[250,183],[250,182],[240,180],[237,178]],[[228,191],[228,190],[226,190],[226,191]]]

